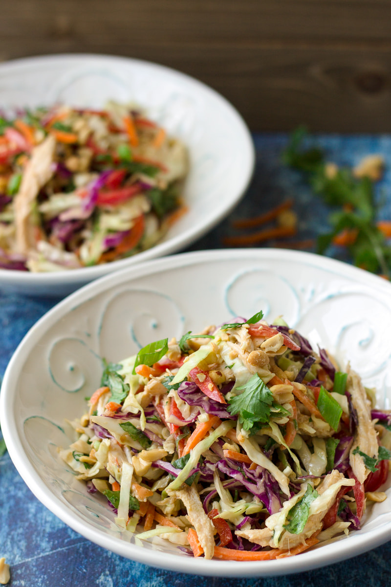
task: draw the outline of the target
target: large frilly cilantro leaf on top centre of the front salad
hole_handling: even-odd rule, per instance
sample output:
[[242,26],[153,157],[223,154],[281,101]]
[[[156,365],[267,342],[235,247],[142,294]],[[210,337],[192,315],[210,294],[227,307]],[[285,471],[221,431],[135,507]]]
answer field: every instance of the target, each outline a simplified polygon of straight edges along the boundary
[[250,430],[257,422],[268,422],[274,398],[260,376],[256,373],[243,387],[237,389],[243,392],[228,400],[228,411],[230,414],[239,414],[239,422],[244,430]]

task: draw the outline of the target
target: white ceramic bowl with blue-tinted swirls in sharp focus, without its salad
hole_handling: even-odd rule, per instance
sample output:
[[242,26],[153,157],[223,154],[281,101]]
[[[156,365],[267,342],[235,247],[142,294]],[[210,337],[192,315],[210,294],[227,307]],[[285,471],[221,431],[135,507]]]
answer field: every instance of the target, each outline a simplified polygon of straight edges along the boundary
[[232,316],[285,320],[311,342],[350,360],[389,407],[391,285],[325,257],[283,249],[202,251],[156,259],[106,276],[60,302],[30,330],[6,370],[1,428],[30,490],[84,537],[122,556],[179,572],[266,576],[304,571],[361,554],[391,538],[391,489],[368,507],[363,528],[292,558],[262,562],[193,559],[158,541],[144,548],[114,524],[106,504],[59,459],[65,419],[83,413],[98,387],[99,357],[121,360],[152,340]]

